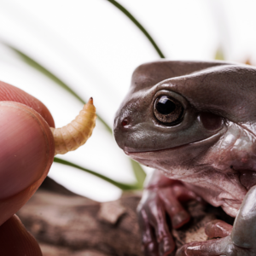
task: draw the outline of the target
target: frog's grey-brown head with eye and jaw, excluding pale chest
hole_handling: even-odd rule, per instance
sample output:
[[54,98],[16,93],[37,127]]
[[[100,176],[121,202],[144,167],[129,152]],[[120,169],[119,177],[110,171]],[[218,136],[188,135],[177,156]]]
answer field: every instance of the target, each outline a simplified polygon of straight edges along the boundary
[[114,137],[146,166],[191,166],[223,137],[230,120],[255,120],[255,81],[255,68],[224,61],[143,64],[116,113]]

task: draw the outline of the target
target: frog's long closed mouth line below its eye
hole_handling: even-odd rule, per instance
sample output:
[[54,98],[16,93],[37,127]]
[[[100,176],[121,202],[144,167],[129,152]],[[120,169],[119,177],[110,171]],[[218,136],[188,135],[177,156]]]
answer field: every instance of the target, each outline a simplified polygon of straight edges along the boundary
[[129,148],[129,147],[124,147],[124,152],[125,154],[129,155],[129,156],[136,156],[139,157],[139,155],[141,154],[142,156],[144,154],[153,154],[153,153],[164,153],[164,152],[168,152],[168,151],[174,151],[174,150],[180,150],[183,148],[198,148],[198,147],[202,147],[204,145],[209,145],[212,146],[213,143],[216,143],[216,141],[218,141],[219,137],[221,137],[220,133],[214,134],[211,137],[207,137],[205,139],[202,140],[198,140],[192,143],[184,143],[182,145],[176,146],[176,147],[171,147],[171,148],[160,148],[160,149],[152,149],[152,150],[139,150],[137,148]]

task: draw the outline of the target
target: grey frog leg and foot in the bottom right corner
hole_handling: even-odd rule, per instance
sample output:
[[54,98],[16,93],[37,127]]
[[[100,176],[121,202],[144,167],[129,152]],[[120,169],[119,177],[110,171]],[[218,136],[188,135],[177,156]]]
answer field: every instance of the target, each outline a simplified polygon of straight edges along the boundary
[[176,256],[254,256],[256,255],[256,186],[242,201],[230,236],[184,245]]

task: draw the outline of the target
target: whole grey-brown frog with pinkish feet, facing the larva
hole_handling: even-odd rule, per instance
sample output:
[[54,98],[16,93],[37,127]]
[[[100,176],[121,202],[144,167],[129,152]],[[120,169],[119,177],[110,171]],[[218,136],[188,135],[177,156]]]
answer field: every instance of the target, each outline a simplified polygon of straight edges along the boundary
[[[154,112],[161,96],[183,108],[171,124]],[[255,122],[254,67],[223,61],[137,67],[114,136],[125,154],[156,169],[138,207],[146,255],[174,250],[165,214],[173,228],[185,224],[189,213],[180,201],[191,198],[223,207],[236,221],[207,224],[208,236],[222,238],[187,244],[176,255],[256,255]]]

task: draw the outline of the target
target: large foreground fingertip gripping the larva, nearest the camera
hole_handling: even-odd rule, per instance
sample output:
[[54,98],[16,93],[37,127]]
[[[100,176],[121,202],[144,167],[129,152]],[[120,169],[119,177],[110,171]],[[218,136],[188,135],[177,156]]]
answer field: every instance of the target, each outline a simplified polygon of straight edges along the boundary
[[38,189],[54,158],[49,125],[32,108],[0,102],[0,225]]

